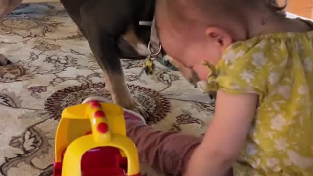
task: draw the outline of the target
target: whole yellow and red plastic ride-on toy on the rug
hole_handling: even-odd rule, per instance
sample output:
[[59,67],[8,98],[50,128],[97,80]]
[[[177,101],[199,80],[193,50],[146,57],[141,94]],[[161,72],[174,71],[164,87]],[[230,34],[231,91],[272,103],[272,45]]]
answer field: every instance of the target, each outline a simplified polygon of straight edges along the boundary
[[63,110],[55,136],[53,176],[140,176],[123,108],[91,101]]

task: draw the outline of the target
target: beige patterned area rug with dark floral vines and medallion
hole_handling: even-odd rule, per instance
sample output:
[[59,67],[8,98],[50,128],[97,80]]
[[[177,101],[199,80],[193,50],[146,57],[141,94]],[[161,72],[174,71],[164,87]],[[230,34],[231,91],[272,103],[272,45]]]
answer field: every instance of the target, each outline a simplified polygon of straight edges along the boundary
[[[38,1],[38,0],[37,0]],[[56,2],[23,4],[0,19],[0,175],[52,176],[61,111],[91,94],[109,97],[89,46]],[[157,65],[138,78],[142,61],[122,61],[131,93],[164,131],[201,135],[214,103],[179,72]],[[144,176],[161,176],[142,164]]]

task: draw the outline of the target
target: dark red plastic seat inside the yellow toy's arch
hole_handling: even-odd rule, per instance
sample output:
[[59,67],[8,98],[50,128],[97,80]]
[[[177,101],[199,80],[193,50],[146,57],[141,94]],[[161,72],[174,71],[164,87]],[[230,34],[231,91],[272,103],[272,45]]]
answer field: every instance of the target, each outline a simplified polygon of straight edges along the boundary
[[[127,161],[127,160],[126,160]],[[114,147],[98,147],[87,151],[81,161],[83,176],[127,176],[125,159]]]

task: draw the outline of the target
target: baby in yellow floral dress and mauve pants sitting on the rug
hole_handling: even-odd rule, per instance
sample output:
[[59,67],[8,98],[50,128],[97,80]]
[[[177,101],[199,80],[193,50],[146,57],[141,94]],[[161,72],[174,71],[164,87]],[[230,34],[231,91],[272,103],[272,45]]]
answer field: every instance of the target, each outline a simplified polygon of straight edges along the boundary
[[274,4],[157,0],[163,48],[217,91],[216,112],[203,140],[126,115],[142,162],[183,176],[313,176],[313,24]]

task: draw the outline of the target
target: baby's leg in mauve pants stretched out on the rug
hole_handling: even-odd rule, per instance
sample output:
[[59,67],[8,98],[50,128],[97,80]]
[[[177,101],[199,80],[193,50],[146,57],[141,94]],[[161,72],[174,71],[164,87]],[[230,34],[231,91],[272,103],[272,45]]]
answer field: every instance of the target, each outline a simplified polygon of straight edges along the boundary
[[162,132],[138,120],[126,120],[127,135],[138,148],[139,159],[156,171],[181,176],[201,138],[179,132]]

